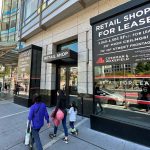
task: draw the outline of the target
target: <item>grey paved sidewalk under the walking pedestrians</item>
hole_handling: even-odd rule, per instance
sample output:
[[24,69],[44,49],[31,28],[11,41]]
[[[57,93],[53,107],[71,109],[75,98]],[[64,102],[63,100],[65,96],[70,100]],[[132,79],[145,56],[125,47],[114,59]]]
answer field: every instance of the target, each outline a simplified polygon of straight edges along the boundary
[[[48,108],[49,113],[52,108]],[[29,109],[9,101],[0,101],[0,150],[28,150],[24,145],[26,120]],[[40,137],[44,150],[150,150],[148,147],[125,141],[90,129],[89,118],[77,117],[79,135],[69,134],[69,143],[62,141],[63,128],[60,126],[57,137],[49,138],[53,126],[41,129]],[[68,125],[69,127],[69,125]]]

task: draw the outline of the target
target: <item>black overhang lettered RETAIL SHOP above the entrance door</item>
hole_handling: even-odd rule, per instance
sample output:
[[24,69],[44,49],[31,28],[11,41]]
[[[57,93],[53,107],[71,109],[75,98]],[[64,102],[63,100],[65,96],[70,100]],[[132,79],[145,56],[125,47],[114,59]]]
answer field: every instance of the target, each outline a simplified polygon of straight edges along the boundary
[[54,64],[76,63],[77,58],[78,58],[77,52],[67,49],[50,55],[46,55],[43,57],[43,61],[45,63],[54,63]]

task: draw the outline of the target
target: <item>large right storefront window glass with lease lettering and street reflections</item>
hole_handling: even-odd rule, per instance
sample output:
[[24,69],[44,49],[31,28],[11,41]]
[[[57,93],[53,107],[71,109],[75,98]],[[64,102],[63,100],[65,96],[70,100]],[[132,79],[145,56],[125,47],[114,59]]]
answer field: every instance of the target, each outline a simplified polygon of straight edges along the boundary
[[[95,114],[104,110],[101,115],[149,128],[150,27],[148,22],[132,26],[149,17],[149,13],[134,16],[148,8],[149,3],[142,3],[132,10],[108,13],[108,18],[104,14],[94,18],[92,40]],[[130,15],[134,17],[127,20]]]

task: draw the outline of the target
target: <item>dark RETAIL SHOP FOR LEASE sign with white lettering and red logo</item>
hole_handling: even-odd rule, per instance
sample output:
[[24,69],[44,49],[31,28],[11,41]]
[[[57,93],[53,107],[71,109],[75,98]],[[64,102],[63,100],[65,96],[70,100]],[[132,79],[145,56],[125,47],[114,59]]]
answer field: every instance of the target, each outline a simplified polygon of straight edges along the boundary
[[150,4],[93,25],[94,63],[150,61]]

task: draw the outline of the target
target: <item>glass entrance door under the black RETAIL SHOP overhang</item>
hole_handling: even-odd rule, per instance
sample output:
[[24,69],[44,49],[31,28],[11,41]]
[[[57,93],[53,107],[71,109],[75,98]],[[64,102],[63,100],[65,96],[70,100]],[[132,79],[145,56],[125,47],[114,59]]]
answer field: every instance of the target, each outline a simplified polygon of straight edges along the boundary
[[76,66],[60,66],[58,68],[58,89],[66,93],[67,105],[77,98],[78,69]]

